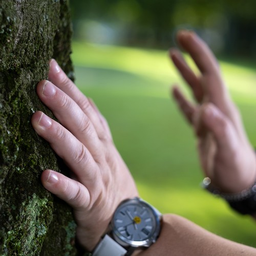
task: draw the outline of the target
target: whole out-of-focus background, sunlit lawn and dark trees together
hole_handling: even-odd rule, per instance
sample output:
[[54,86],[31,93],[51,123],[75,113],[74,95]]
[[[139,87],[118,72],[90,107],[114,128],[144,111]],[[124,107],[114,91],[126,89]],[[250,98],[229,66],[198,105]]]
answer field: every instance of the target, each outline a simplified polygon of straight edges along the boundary
[[140,196],[163,213],[256,247],[251,218],[200,187],[194,133],[169,97],[174,83],[188,97],[189,91],[167,55],[177,47],[179,29],[194,30],[207,42],[256,145],[256,2],[71,0],[70,5],[76,84],[109,121]]

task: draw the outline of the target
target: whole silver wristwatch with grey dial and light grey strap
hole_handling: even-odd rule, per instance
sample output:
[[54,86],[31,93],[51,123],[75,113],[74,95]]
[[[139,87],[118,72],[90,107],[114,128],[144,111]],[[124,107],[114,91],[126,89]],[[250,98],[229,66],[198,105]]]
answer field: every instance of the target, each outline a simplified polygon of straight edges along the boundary
[[150,247],[161,228],[161,214],[140,198],[123,201],[114,212],[111,231],[93,251],[93,256],[131,255],[138,247]]

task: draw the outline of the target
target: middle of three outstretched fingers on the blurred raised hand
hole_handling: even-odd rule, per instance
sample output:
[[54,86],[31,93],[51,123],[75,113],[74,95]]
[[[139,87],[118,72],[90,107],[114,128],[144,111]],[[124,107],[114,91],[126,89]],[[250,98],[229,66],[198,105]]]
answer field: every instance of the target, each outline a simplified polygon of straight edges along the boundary
[[194,97],[198,102],[203,100],[203,88],[198,77],[195,73],[188,67],[186,61],[184,60],[183,56],[181,55],[180,51],[177,49],[170,49],[169,51],[170,58],[172,58],[174,65],[179,70],[182,77],[191,87]]

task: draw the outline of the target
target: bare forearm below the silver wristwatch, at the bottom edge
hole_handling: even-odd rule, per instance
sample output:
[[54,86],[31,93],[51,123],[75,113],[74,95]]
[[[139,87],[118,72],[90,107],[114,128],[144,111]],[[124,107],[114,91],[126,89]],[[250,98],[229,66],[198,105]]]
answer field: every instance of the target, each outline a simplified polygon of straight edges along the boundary
[[256,255],[256,249],[221,238],[176,215],[164,215],[155,244],[133,255]]

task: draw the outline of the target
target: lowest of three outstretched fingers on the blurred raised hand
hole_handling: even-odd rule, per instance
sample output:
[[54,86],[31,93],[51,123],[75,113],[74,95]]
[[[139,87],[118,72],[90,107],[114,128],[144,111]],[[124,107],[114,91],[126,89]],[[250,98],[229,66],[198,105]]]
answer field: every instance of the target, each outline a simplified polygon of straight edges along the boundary
[[185,98],[185,96],[182,94],[182,92],[180,91],[180,89],[178,87],[173,87],[172,93],[173,93],[174,99],[175,99],[176,103],[178,104],[182,114],[184,115],[186,120],[190,124],[192,124],[196,107]]

